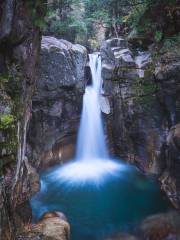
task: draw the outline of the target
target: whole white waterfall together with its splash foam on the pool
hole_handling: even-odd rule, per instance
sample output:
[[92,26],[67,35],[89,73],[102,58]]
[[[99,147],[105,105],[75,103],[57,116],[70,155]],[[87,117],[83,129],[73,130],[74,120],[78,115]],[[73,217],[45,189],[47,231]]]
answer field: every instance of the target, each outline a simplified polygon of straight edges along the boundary
[[70,184],[102,183],[106,177],[115,175],[122,165],[110,160],[100,109],[101,57],[90,54],[92,85],[87,86],[83,97],[83,110],[78,133],[75,160],[53,172],[59,181]]

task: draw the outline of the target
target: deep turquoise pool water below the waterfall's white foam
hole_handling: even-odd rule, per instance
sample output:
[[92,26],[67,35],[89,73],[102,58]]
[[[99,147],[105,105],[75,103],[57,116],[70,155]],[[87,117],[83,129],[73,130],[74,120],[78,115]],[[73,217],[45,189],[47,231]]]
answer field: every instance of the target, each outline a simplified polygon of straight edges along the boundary
[[146,216],[169,208],[158,182],[133,167],[107,176],[100,185],[68,186],[56,175],[56,168],[41,174],[41,191],[31,199],[33,221],[47,211],[61,211],[71,224],[72,240],[133,232]]

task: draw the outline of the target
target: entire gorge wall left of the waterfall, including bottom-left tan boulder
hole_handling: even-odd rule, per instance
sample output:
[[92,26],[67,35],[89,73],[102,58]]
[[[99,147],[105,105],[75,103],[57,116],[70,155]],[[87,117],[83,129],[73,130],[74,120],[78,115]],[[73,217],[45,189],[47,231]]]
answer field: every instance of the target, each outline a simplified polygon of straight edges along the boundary
[[[44,220],[43,228],[42,223],[31,231],[27,227],[29,199],[39,190],[37,169],[74,155],[85,88],[86,49],[53,37],[43,37],[41,43],[38,21],[44,6],[39,1],[33,6],[31,1],[0,1],[2,240],[68,239],[70,234],[58,213],[46,216],[50,220]],[[58,225],[57,236],[49,222]]]

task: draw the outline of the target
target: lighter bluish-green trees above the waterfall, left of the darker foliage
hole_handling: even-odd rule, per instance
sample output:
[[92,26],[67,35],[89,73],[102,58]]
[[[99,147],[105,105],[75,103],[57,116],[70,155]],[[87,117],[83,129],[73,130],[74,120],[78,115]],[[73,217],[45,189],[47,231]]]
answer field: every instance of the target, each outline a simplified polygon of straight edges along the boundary
[[94,39],[96,27],[100,25],[109,32],[109,36],[117,36],[122,29],[120,26],[128,22],[129,11],[134,4],[136,6],[139,1],[54,0],[48,4],[46,32],[72,41],[84,35],[86,39]]

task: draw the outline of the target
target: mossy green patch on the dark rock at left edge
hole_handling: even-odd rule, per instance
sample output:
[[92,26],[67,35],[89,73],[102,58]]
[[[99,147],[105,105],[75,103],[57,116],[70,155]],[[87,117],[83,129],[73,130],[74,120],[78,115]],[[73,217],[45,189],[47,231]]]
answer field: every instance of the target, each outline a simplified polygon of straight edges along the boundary
[[22,70],[16,64],[7,66],[7,72],[0,74],[0,100],[6,106],[5,111],[0,113],[0,132],[3,136],[0,142],[1,166],[7,162],[7,159],[15,160],[16,158],[16,124],[24,111],[24,103],[22,102],[23,81]]

